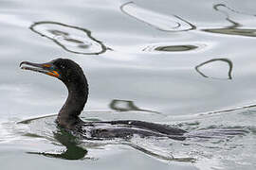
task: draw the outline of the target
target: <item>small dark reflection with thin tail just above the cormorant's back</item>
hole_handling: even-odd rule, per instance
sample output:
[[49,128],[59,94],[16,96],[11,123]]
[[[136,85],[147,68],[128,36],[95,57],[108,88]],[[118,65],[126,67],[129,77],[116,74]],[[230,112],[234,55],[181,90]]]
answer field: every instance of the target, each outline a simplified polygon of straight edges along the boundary
[[112,110],[117,110],[117,111],[145,111],[145,112],[153,112],[159,114],[160,112],[154,111],[154,110],[142,110],[139,109],[133,101],[130,100],[118,100],[114,99],[112,102],[109,104],[109,107]]

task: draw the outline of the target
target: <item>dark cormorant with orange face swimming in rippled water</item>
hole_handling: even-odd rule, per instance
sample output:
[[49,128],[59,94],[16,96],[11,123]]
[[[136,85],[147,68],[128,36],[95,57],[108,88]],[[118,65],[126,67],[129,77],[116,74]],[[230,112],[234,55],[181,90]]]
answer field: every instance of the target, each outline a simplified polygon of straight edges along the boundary
[[88,83],[82,68],[71,59],[54,59],[46,63],[23,61],[20,67],[48,76],[54,76],[64,82],[68,97],[59,111],[57,124],[60,127],[78,134],[86,139],[103,140],[113,138],[130,138],[135,134],[140,137],[169,137],[174,140],[185,140],[187,131],[167,125],[136,121],[119,120],[108,122],[83,122],[79,115],[88,98]]

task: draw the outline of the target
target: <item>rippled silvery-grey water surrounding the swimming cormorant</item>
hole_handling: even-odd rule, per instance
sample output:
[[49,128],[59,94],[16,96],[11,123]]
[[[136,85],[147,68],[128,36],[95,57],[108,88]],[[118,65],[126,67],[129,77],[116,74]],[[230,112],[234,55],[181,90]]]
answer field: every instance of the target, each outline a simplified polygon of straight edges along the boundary
[[[1,169],[255,169],[255,7],[253,0],[0,0]],[[56,58],[77,61],[87,76],[85,121],[243,134],[63,139],[54,120],[64,85],[19,68]],[[63,157],[66,145],[78,152]]]

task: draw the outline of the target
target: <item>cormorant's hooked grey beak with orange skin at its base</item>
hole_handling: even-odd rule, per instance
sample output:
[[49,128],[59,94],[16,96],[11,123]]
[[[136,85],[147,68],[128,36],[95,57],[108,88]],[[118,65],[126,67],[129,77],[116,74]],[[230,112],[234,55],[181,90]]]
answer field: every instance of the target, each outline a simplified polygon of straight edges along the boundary
[[32,63],[28,61],[22,61],[20,63],[20,68],[23,70],[30,70],[33,72],[39,72],[46,74],[48,76],[55,76],[55,77],[60,77],[60,74],[56,67],[51,63],[51,62],[46,62],[46,63]]

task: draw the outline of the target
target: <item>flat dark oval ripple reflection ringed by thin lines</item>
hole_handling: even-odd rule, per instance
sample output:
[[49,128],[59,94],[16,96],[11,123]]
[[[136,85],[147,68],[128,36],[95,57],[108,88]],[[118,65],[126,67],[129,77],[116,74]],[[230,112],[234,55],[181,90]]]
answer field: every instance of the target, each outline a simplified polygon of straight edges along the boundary
[[142,51],[160,51],[160,52],[183,52],[183,51],[191,51],[198,48],[198,46],[195,45],[149,45],[146,48],[144,48]]

